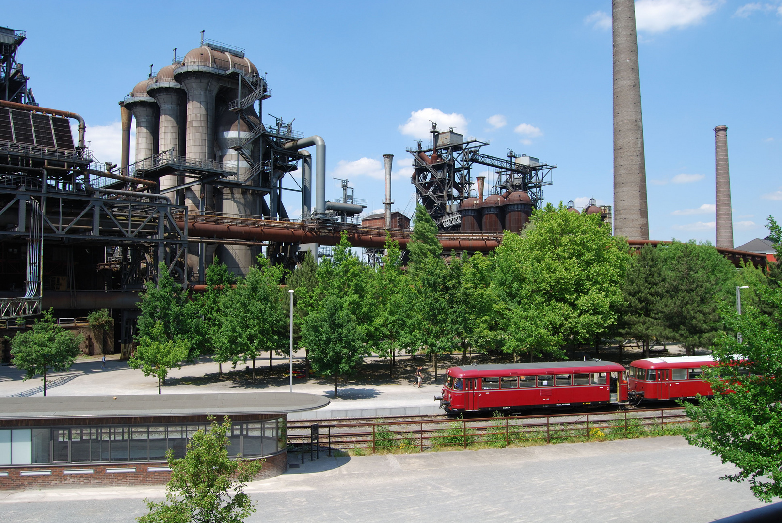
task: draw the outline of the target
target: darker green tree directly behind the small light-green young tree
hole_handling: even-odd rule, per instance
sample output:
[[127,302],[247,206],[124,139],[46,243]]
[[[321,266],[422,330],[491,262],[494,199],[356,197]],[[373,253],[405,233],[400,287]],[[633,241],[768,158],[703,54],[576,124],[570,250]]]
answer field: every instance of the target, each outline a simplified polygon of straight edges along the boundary
[[[150,336],[152,329],[156,328],[156,323],[163,324],[163,333],[167,340],[187,341],[188,361],[198,358],[198,350],[202,343],[190,343],[193,337],[193,326],[196,324],[194,315],[197,314],[197,308],[190,304],[188,292],[184,290],[181,283],[177,283],[171,278],[170,273],[164,263],[158,267],[157,283],[147,282],[146,290],[140,296],[138,308],[141,314],[138,316],[137,340],[142,336]],[[195,333],[198,334],[198,331]]]

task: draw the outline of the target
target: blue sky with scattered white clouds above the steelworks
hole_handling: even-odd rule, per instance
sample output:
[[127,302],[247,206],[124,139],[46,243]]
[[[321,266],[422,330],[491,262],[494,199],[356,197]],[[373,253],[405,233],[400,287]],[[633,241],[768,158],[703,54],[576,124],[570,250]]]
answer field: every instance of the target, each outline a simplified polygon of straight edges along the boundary
[[[14,2],[0,25],[27,30],[20,62],[38,102],[81,113],[114,162],[117,101],[150,64],[197,47],[200,30],[246,48],[273,91],[264,113],[325,138],[327,198],[340,195],[331,176],[347,177],[380,208],[391,153],[409,213],[405,148],[429,119],[490,141],[487,154],[558,165],[546,201],[612,205],[610,12],[609,0]],[[782,2],[637,0],[637,20],[651,237],[713,242],[717,125],[729,127],[735,244],[765,237],[766,216],[782,219]]]

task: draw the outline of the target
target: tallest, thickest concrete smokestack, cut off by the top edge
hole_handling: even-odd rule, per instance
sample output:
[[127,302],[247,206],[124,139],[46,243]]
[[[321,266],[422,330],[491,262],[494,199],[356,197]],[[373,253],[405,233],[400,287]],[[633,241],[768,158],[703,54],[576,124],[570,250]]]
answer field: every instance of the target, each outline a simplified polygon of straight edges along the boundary
[[649,239],[644,124],[634,0],[612,0],[614,38],[614,234]]

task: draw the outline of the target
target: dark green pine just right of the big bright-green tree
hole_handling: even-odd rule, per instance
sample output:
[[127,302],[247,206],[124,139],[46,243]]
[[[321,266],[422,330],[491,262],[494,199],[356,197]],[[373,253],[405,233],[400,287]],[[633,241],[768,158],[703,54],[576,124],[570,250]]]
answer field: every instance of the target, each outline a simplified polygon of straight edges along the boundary
[[660,251],[651,245],[644,246],[627,267],[622,284],[625,302],[619,319],[619,333],[639,341],[644,358],[649,357],[651,340],[665,335],[664,283]]

